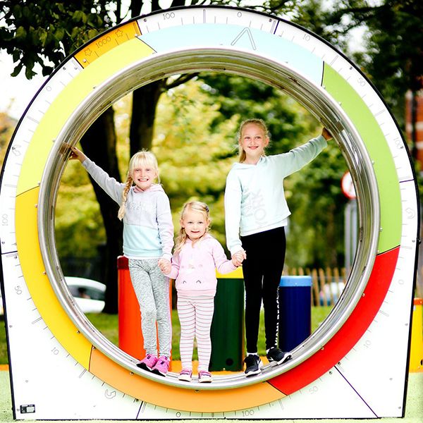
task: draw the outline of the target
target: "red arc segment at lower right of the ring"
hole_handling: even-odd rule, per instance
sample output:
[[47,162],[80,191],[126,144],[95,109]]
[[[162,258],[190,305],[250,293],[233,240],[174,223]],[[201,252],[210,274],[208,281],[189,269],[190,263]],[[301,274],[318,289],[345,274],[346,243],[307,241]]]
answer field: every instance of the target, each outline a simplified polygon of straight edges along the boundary
[[341,360],[360,340],[372,323],[386,296],[396,268],[400,247],[377,255],[372,274],[362,298],[341,329],[307,361],[268,381],[279,391],[290,395],[307,386]]

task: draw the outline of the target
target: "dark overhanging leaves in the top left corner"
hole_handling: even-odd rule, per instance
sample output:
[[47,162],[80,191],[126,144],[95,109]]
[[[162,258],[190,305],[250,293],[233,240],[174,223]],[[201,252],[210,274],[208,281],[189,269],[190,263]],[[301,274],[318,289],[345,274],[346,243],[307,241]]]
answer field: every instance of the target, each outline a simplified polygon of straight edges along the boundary
[[108,11],[114,3],[1,1],[0,49],[6,49],[17,63],[12,76],[24,68],[26,78],[31,79],[36,64],[43,75],[49,75],[68,54],[114,23]]

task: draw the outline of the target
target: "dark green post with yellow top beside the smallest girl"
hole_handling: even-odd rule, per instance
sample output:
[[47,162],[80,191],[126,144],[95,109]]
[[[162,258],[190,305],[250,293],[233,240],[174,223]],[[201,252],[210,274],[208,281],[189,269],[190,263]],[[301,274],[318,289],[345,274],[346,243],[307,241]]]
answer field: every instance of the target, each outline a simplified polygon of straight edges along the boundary
[[243,369],[244,351],[244,280],[239,267],[230,274],[216,274],[214,298],[211,371]]

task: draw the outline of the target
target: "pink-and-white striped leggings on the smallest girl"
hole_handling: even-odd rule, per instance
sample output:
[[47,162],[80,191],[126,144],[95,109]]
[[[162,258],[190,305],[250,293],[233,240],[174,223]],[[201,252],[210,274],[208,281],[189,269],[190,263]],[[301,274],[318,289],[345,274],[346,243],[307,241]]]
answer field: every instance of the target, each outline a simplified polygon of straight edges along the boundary
[[210,326],[214,312],[214,296],[181,297],[178,295],[180,321],[180,361],[183,369],[192,370],[192,350],[197,339],[198,370],[209,370],[212,341]]

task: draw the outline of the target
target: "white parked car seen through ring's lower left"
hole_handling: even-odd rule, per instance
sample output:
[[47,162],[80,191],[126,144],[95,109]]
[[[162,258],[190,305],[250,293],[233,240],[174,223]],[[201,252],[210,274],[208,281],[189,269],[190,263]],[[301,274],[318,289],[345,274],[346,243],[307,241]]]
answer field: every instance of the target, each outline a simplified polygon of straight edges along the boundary
[[71,294],[84,313],[101,313],[104,309],[104,283],[92,279],[65,276]]

